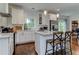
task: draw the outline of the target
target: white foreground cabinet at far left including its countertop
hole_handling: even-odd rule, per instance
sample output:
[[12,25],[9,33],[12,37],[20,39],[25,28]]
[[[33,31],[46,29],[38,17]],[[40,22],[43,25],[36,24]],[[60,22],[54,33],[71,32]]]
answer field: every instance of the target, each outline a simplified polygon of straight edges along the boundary
[[12,55],[14,51],[13,33],[0,34],[0,55]]

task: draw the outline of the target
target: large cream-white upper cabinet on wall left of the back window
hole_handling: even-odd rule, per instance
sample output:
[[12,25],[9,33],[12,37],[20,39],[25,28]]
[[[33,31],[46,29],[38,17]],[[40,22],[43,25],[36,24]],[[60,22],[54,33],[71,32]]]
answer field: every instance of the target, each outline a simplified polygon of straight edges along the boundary
[[24,10],[19,7],[12,8],[12,24],[24,24]]

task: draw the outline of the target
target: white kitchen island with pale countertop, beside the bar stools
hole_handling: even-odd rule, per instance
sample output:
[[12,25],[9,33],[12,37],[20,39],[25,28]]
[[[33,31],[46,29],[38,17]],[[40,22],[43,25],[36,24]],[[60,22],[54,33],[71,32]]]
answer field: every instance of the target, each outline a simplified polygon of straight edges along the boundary
[[[35,32],[35,50],[38,55],[45,55],[46,40],[53,38],[53,32],[50,31],[37,31]],[[49,46],[49,49],[52,47]]]

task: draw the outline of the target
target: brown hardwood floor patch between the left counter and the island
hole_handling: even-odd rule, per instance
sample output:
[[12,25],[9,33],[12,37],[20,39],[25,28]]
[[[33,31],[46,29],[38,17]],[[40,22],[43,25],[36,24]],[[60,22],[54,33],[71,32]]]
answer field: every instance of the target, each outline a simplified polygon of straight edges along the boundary
[[15,55],[36,55],[34,43],[16,45]]

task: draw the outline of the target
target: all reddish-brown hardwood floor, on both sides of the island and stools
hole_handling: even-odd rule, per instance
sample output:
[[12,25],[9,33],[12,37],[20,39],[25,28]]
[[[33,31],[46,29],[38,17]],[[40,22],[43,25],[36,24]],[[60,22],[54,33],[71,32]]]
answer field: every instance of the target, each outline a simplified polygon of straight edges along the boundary
[[[72,38],[72,53],[73,55],[79,55],[79,46],[76,37]],[[15,55],[36,55],[35,44],[26,43],[26,44],[16,45]]]

